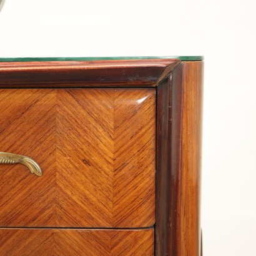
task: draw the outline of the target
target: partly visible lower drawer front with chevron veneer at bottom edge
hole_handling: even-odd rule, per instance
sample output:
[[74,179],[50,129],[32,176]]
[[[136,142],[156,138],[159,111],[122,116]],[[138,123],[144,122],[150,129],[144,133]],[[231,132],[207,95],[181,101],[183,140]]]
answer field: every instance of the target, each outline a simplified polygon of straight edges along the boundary
[[154,255],[154,229],[0,229],[1,256]]

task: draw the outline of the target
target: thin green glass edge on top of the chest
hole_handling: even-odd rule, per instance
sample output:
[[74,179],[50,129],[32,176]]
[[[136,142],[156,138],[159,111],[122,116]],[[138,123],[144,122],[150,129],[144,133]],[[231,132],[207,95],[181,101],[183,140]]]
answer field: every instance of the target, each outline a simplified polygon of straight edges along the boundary
[[20,57],[0,58],[0,62],[30,62],[30,61],[107,61],[126,59],[180,59],[180,61],[203,61],[204,56],[132,56],[132,57]]

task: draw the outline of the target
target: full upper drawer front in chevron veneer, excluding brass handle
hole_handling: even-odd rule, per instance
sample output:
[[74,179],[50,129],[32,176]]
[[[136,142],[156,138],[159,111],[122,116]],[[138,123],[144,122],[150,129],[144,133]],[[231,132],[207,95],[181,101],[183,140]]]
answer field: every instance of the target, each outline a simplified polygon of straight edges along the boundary
[[155,222],[155,89],[1,89],[1,227]]

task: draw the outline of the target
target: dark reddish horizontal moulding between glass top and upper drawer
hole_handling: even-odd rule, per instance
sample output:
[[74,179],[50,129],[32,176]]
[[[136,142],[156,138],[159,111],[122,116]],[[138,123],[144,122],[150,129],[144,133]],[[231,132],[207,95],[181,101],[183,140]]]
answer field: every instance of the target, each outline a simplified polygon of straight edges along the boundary
[[156,86],[179,59],[0,62],[0,88]]

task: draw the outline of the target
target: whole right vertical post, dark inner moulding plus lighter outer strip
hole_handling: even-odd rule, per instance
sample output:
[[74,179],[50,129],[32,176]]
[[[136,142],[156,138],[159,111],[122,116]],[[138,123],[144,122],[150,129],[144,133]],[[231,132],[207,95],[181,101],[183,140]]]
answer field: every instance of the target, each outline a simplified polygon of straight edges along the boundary
[[157,87],[156,255],[200,255],[202,62]]

